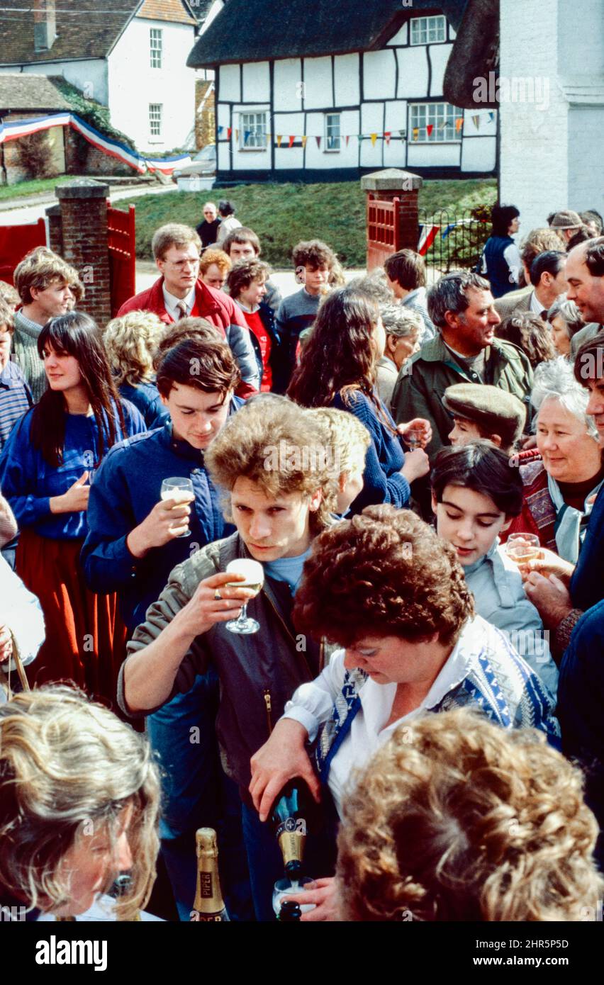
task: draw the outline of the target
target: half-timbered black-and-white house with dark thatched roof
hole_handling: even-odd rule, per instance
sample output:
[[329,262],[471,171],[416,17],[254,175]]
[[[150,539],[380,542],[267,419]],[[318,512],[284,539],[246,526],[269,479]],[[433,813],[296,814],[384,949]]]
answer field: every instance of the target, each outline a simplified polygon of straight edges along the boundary
[[228,0],[188,64],[216,70],[218,172],[343,180],[379,167],[428,177],[497,166],[496,110],[442,81],[465,0]]

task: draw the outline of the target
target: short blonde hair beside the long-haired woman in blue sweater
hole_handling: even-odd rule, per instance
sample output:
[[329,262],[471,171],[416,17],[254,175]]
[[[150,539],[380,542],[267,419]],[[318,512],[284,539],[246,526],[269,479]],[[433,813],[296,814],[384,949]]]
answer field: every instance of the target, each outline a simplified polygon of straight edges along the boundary
[[151,382],[154,354],[165,332],[166,325],[153,311],[129,311],[107,322],[102,343],[116,386]]

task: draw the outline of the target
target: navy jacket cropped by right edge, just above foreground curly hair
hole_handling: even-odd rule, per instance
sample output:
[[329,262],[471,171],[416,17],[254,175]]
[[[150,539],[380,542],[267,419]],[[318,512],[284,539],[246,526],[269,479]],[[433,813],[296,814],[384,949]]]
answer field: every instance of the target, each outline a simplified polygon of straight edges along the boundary
[[599,602],[572,630],[560,665],[557,714],[563,753],[578,759],[585,769],[585,801],[601,828],[596,849],[600,866],[604,865],[603,655],[604,602]]

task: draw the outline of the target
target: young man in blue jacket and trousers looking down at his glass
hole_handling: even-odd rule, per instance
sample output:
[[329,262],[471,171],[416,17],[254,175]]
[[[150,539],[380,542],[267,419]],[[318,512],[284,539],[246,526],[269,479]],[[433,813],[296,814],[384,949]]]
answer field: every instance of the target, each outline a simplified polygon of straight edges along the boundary
[[[169,422],[139,435],[143,440],[115,446],[95,476],[82,563],[95,591],[119,593],[130,632],[145,621],[176,564],[233,530],[223,518],[204,452],[242,403],[234,396],[238,381],[231,349],[214,328],[208,326],[195,338],[183,338],[174,328],[163,342],[157,365]],[[192,501],[162,500],[163,480],[174,477],[190,479]],[[148,719],[164,773],[163,852],[182,920],[189,919],[195,895],[194,832],[199,826],[218,825],[219,798],[227,811],[231,795],[235,805],[238,802],[219,765],[214,728],[218,699],[218,678],[210,669],[197,676],[191,690]],[[228,896],[229,887],[234,889],[236,898],[230,902],[235,915],[241,906],[242,915],[247,915],[245,879],[241,883],[244,856],[237,861],[238,813],[235,818],[235,845],[230,843],[229,851],[222,853],[225,864],[233,867],[234,880],[225,873],[224,881]]]

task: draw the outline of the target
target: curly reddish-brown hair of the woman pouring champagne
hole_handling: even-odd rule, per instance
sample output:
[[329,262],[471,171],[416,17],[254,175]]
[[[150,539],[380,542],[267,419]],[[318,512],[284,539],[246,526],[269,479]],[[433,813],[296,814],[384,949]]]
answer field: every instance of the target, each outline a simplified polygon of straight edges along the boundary
[[296,593],[301,632],[351,646],[366,636],[453,646],[474,615],[455,550],[409,509],[367,506],[314,541]]

